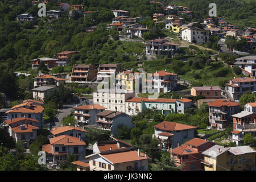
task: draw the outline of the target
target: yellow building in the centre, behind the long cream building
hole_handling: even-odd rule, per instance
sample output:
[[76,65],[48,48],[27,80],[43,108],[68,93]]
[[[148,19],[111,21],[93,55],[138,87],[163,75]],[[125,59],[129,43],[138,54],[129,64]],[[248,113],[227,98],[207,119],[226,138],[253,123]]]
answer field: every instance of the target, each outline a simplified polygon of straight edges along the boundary
[[[123,71],[117,75],[117,84],[122,85],[122,89],[127,91],[133,91],[135,87],[135,79],[139,78],[141,73],[133,71]],[[139,81],[141,83],[141,81]],[[123,88],[126,86],[126,88]]]

